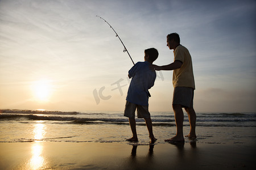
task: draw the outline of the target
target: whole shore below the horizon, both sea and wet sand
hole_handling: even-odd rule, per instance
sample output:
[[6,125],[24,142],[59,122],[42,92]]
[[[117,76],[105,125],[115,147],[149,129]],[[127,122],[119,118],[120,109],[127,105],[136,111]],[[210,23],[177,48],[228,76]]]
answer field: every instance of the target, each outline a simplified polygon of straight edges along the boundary
[[176,132],[174,114],[152,112],[154,145],[141,119],[139,142],[127,142],[122,114],[2,110],[0,169],[256,168],[256,113],[197,113],[197,139],[167,143]]

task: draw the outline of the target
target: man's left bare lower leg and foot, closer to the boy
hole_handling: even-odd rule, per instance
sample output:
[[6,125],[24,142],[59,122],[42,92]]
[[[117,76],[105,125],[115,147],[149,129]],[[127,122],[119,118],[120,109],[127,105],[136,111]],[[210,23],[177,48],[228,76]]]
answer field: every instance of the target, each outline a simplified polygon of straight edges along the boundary
[[184,114],[182,110],[182,106],[180,104],[174,104],[172,105],[172,108],[174,109],[174,115],[175,115],[175,122],[176,122],[176,135],[170,139],[166,139],[164,141],[166,142],[183,142],[183,121],[184,121]]

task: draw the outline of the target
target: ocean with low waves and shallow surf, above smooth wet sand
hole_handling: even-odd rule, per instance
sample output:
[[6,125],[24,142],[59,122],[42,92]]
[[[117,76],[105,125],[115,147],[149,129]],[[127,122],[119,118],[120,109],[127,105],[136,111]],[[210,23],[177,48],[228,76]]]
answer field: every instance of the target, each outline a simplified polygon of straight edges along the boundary
[[[155,145],[165,143],[176,133],[174,113],[151,112]],[[136,118],[139,142],[148,145],[148,131],[143,119]],[[184,135],[189,121],[184,112]],[[256,144],[256,113],[197,113],[197,143]],[[127,117],[110,111],[31,111],[0,110],[0,142],[118,142],[131,145]],[[185,138],[185,142],[191,142]],[[195,141],[193,141],[195,142]]]

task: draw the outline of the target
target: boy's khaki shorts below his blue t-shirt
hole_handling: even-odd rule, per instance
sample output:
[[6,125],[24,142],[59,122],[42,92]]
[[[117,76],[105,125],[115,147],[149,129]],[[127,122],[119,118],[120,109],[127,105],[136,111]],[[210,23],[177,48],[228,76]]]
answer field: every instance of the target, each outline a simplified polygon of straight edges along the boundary
[[150,112],[148,112],[148,105],[138,105],[130,103],[126,100],[125,104],[125,114],[124,116],[129,118],[135,118],[135,110],[137,108],[138,118],[150,118]]

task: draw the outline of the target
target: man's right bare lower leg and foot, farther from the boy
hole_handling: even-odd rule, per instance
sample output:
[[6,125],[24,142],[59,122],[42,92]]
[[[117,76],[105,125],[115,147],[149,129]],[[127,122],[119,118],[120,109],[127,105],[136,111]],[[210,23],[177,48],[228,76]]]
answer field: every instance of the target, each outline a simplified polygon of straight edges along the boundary
[[188,120],[190,124],[190,131],[186,137],[195,139],[196,138],[196,112],[193,109],[193,107],[185,108],[185,111],[188,113]]

